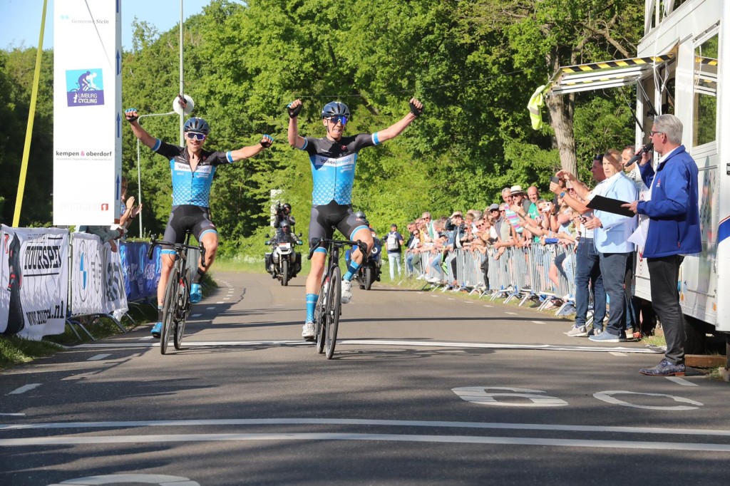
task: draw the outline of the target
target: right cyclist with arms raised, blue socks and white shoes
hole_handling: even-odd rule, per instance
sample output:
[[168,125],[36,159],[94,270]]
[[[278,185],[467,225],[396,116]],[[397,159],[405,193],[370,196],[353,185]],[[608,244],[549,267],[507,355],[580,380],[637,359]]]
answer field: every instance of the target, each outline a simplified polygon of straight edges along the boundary
[[[415,98],[410,100],[410,112],[374,134],[344,136],[345,126],[350,120],[350,109],[339,101],[332,101],[322,109],[322,124],[327,128],[327,136],[315,139],[299,136],[296,117],[301,111],[301,100],[288,105],[289,144],[306,150],[312,163],[312,214],[310,216],[310,247],[320,238],[331,239],[334,228],[348,239],[360,240],[370,252],[373,247],[372,233],[364,218],[353,214],[352,193],[355,180],[355,166],[358,152],[365,147],[373,147],[399,136],[418,115],[423,112],[423,104]],[[319,295],[320,282],[324,272],[327,252],[324,248],[315,250],[312,256],[312,269],[307,277],[307,318],[301,329],[304,339],[315,337],[314,312]],[[360,250],[353,252],[352,261],[342,275],[342,303],[353,298],[351,280],[357,273],[364,255]]]

